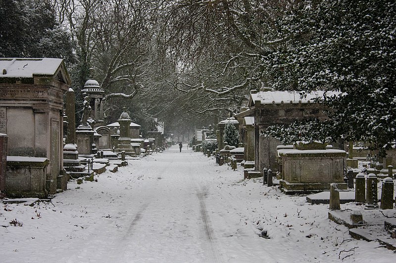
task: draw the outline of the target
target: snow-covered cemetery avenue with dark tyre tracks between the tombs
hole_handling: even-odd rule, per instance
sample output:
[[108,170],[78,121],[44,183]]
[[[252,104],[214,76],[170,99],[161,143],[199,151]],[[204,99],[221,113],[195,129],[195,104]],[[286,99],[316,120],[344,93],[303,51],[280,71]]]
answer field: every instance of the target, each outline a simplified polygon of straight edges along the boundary
[[69,182],[50,202],[5,204],[1,262],[394,262],[329,221],[328,205],[241,173],[173,146],[97,182]]

